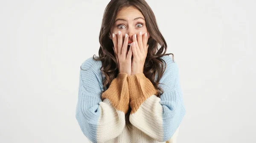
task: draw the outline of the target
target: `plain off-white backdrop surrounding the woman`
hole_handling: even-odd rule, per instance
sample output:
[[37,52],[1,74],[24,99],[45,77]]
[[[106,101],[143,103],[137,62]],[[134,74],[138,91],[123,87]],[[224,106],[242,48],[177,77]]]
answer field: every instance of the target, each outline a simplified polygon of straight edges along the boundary
[[[79,70],[109,1],[1,0],[1,143],[87,143]],[[146,1],[180,71],[178,143],[256,143],[256,1]]]

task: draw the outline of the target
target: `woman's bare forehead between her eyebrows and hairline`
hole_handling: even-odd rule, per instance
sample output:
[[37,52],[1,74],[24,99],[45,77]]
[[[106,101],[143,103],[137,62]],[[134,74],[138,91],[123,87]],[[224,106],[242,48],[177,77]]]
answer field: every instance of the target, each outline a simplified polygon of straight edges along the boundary
[[143,17],[143,14],[135,7],[129,6],[129,7],[124,7],[121,10],[119,10],[116,14],[116,19],[122,18],[122,19],[133,19],[136,17]]

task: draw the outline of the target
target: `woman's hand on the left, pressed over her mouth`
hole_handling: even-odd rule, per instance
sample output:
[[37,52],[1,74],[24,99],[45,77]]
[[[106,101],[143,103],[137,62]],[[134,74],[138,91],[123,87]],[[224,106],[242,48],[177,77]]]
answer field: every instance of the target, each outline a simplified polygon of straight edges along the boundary
[[128,34],[125,34],[124,43],[122,42],[122,32],[118,31],[118,35],[112,34],[113,41],[113,50],[116,56],[116,60],[118,63],[118,71],[119,73],[127,73],[128,76],[131,75],[131,56],[132,56],[132,48],[128,48]]

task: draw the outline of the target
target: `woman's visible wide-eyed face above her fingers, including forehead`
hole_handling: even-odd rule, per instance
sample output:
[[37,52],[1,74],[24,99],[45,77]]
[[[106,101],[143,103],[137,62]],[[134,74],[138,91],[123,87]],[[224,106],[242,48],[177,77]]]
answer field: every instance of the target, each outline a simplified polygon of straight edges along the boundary
[[[110,38],[112,39],[112,34],[118,35],[118,31],[122,32],[123,41],[125,34],[128,34],[128,43],[133,42],[132,37],[134,34],[138,35],[140,31],[142,31],[142,34],[147,33],[143,14],[133,6],[122,8],[116,15],[115,22],[111,28]],[[148,35],[148,37],[150,36]]]

